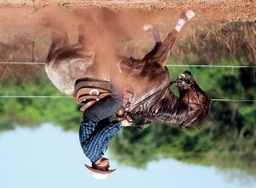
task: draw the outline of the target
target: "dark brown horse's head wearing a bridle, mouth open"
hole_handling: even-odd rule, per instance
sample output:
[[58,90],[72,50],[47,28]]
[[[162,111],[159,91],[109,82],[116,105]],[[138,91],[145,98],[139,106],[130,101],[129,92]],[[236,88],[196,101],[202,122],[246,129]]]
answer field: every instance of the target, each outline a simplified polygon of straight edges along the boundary
[[[210,112],[211,99],[197,85],[190,71],[181,73],[182,77],[177,78],[179,89],[179,101],[185,105],[183,122],[179,124],[180,128],[196,124]],[[177,109],[179,110],[179,109]]]

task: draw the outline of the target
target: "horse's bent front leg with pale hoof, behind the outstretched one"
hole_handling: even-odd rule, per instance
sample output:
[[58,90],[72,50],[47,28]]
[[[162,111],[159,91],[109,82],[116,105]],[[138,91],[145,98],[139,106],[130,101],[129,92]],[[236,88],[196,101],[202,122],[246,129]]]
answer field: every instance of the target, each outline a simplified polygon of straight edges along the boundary
[[156,50],[158,50],[159,46],[162,44],[162,40],[156,25],[146,23],[144,24],[143,30],[151,31],[156,42],[154,48],[143,57],[143,59],[148,59],[155,54]]

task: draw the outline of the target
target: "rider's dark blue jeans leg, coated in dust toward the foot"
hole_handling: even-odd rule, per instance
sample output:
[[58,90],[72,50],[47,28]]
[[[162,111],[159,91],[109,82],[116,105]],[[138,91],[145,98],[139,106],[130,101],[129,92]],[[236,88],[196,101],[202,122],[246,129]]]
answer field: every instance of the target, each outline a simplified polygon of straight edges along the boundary
[[124,102],[123,79],[118,72],[117,66],[110,71],[111,95],[94,103],[84,111],[84,122],[99,122],[112,116]]

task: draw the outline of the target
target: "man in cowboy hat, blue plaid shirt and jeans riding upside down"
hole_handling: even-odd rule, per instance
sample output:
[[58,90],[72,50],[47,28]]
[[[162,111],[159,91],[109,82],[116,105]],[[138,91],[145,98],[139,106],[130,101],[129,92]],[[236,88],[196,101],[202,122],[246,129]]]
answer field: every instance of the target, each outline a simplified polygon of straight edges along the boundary
[[79,140],[84,154],[92,162],[92,166],[85,165],[92,171],[92,177],[106,179],[115,169],[109,169],[109,159],[104,158],[110,139],[123,127],[131,126],[132,119],[127,116],[121,121],[110,122],[110,117],[123,105],[123,80],[117,66],[110,69],[111,95],[94,103],[84,111],[83,121],[79,129]]

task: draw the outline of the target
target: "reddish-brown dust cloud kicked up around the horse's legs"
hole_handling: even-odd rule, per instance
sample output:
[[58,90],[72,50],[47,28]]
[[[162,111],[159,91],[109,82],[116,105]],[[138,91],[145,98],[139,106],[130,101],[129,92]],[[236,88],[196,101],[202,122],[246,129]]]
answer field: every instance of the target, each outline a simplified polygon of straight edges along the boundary
[[[49,8],[39,15],[39,25],[42,29],[55,30],[60,36],[69,36],[67,40],[73,43],[78,42],[78,34],[84,35],[83,42],[94,48],[98,61],[105,68],[106,62],[114,62],[115,54],[120,53],[121,42],[132,42],[134,46],[139,46],[141,41],[147,40],[148,34],[145,35],[147,32],[143,31],[144,23],[162,24],[170,22],[170,17],[173,16],[167,12],[144,13],[124,9],[115,12],[105,8],[75,9],[70,12]],[[140,40],[134,40],[136,36]]]

